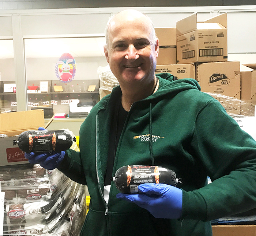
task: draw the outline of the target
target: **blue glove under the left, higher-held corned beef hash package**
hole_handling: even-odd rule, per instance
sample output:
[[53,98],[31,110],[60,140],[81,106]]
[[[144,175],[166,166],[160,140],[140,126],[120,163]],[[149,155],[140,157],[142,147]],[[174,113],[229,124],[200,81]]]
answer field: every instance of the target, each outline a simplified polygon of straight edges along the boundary
[[[46,130],[43,127],[39,127],[38,130]],[[33,153],[25,152],[25,158],[29,160],[30,164],[39,164],[47,170],[53,170],[60,166],[63,158],[65,156],[65,151],[61,152],[42,152]]]

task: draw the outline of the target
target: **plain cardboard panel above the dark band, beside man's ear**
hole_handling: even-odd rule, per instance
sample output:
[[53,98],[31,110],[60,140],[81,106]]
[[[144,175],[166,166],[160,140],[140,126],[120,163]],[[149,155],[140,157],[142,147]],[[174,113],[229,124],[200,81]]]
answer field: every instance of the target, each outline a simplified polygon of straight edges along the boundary
[[176,46],[176,27],[155,28],[155,34],[159,39],[159,46]]

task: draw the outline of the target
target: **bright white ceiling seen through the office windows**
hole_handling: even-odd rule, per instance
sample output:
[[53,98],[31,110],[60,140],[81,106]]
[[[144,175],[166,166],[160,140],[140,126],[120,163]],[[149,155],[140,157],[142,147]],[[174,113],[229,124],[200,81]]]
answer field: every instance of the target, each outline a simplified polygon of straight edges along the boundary
[[[25,39],[26,58],[58,58],[68,52],[73,57],[105,56],[105,37]],[[0,59],[14,58],[13,40],[0,40]]]

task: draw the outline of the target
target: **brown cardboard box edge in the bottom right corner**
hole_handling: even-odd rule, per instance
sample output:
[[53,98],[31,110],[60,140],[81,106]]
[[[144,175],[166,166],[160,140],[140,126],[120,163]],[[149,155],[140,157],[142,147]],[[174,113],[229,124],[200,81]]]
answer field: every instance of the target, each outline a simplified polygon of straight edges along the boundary
[[212,236],[256,236],[256,225],[212,225]]

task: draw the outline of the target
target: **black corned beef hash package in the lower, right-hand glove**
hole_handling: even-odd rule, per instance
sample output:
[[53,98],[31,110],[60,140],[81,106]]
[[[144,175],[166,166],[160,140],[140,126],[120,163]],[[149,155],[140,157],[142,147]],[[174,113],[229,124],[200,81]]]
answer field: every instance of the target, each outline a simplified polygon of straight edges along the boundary
[[122,193],[140,193],[138,186],[145,183],[168,184],[176,186],[181,182],[173,170],[161,166],[122,166],[116,171],[113,181]]

